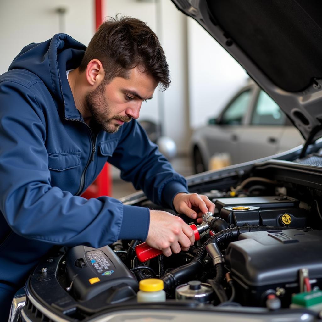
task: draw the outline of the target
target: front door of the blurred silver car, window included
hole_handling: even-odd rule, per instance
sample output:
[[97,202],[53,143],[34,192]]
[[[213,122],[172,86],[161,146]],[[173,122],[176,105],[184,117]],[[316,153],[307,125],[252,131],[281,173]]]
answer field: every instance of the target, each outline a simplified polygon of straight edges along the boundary
[[253,87],[241,90],[225,107],[215,125],[205,131],[205,141],[210,158],[225,152],[236,163],[239,156],[239,130],[244,125],[245,116],[251,106]]

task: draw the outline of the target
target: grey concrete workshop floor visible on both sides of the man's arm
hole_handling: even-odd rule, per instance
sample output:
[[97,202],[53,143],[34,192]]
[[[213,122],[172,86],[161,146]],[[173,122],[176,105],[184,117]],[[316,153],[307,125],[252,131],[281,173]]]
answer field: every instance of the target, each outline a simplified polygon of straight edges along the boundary
[[[188,176],[193,174],[193,168],[191,165],[191,160],[188,157],[176,157],[171,160],[171,164],[174,167],[175,171],[178,173]],[[134,189],[132,183],[125,182],[119,177],[119,170],[112,168],[112,197],[121,198],[127,196],[128,194],[133,194],[137,190]]]

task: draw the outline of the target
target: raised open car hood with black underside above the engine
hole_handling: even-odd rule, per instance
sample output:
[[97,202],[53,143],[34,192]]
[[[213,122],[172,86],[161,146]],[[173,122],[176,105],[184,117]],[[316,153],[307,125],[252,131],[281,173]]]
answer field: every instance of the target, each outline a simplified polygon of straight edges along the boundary
[[172,0],[274,99],[305,139],[322,136],[322,2]]

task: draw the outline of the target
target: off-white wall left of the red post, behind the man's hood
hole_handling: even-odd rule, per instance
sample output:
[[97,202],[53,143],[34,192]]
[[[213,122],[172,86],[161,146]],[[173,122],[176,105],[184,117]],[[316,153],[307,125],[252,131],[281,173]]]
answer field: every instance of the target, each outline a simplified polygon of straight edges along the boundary
[[[55,33],[68,33],[88,45],[95,32],[93,4],[89,0],[1,0],[0,74],[25,45],[45,41]],[[58,7],[67,9],[65,30],[59,30]]]

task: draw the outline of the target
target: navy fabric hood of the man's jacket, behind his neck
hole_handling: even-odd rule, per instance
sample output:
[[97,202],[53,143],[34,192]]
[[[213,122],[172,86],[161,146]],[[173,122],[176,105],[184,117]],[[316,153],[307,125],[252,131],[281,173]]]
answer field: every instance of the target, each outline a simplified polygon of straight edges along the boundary
[[57,33],[43,43],[31,43],[9,66],[37,75],[55,97],[62,99],[61,74],[78,67],[86,46],[64,33]]

